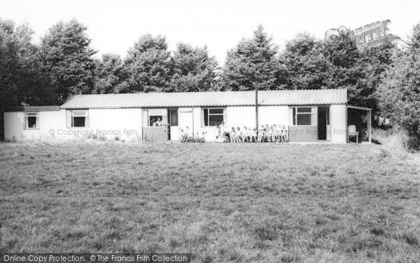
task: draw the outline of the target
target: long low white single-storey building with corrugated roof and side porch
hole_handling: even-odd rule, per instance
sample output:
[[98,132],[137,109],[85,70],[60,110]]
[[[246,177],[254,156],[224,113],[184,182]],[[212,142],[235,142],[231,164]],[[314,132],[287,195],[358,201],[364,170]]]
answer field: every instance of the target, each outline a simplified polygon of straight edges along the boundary
[[181,134],[216,140],[217,126],[286,126],[290,142],[371,140],[371,111],[347,104],[347,90],[134,93],[76,95],[61,106],[23,107],[4,114],[6,140],[103,137],[180,140]]

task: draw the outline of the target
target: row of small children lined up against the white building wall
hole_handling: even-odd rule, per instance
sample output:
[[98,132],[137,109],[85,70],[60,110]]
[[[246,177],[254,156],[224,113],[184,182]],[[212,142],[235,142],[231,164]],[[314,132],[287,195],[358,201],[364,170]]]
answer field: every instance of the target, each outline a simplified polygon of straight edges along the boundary
[[251,127],[227,128],[225,123],[218,126],[218,138],[223,142],[288,142],[288,130],[285,125],[262,125],[260,130]]

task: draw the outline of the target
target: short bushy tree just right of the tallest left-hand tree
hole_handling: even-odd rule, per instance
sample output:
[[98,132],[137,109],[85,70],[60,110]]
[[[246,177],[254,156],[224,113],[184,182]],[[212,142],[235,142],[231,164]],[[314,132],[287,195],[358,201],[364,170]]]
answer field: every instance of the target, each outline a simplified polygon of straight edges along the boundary
[[93,93],[120,93],[128,86],[127,74],[120,55],[104,54],[97,60]]

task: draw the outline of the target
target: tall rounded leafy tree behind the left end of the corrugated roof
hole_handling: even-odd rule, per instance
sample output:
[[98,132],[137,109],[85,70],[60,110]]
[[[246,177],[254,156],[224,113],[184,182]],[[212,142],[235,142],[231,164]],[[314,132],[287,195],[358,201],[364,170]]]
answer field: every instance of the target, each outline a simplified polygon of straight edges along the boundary
[[90,48],[87,27],[77,20],[59,22],[41,39],[41,72],[58,103],[79,93],[92,93],[96,51]]

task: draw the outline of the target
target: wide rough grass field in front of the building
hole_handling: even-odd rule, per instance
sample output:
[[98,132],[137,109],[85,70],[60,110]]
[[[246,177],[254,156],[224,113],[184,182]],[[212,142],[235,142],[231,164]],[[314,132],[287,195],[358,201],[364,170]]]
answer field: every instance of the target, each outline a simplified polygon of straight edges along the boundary
[[0,144],[0,251],[419,262],[420,166],[381,145]]

